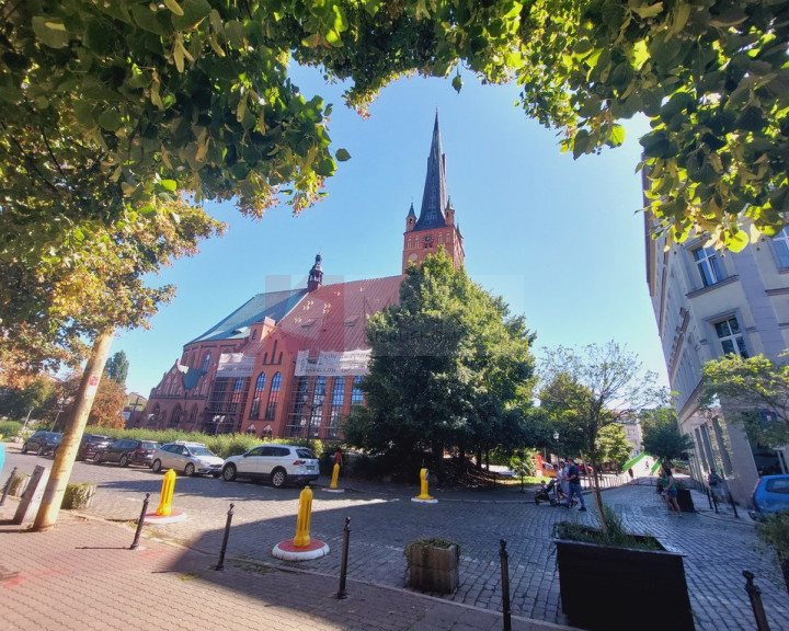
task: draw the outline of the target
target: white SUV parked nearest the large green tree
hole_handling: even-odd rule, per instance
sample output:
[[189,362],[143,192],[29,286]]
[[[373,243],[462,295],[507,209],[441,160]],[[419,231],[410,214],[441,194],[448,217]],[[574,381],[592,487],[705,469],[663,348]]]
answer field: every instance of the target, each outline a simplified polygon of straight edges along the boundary
[[307,483],[318,480],[318,459],[307,447],[293,445],[258,445],[240,456],[230,456],[221,469],[222,480],[237,477],[271,480],[276,486],[287,482]]

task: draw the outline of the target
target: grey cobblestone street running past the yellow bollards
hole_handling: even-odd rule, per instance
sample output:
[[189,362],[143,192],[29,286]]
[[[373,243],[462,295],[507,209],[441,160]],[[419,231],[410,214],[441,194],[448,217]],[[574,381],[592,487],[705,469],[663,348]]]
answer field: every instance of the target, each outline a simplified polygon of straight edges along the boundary
[[[10,466],[33,469],[34,456],[9,455]],[[50,460],[48,461],[52,462]],[[156,507],[161,474],[147,470],[78,463],[73,482],[99,485],[90,515],[133,523],[139,515],[145,493]],[[321,480],[321,482],[325,482]],[[645,481],[644,481],[645,482]],[[590,495],[587,513],[562,507],[539,506],[530,490],[513,486],[473,491],[431,489],[438,502],[411,502],[418,485],[340,482],[342,494],[319,485],[313,491],[310,535],[325,541],[331,552],[323,558],[288,562],[271,555],[272,548],[295,535],[299,489],[272,489],[264,484],[226,483],[214,479],[179,478],[173,507],[187,514],[184,521],[146,526],[146,537],[165,539],[206,555],[221,547],[227,512],[235,504],[228,558],[259,566],[298,569],[324,576],[338,576],[345,518],[351,518],[348,580],[368,586],[402,588],[408,541],[443,537],[461,547],[460,586],[444,601],[476,609],[501,609],[500,540],[506,541],[513,615],[525,619],[563,624],[559,599],[556,558],[550,532],[556,521],[570,519],[596,524]],[[758,542],[753,523],[744,510],[735,518],[730,509],[716,515],[707,498],[694,492],[697,514],[677,518],[665,509],[654,487],[630,484],[604,493],[607,505],[622,516],[628,530],[649,534],[673,551],[685,554],[690,601],[699,631],[755,628],[751,604],[744,590],[743,570],[756,575],[768,620],[774,630],[789,629],[789,595],[770,550]],[[130,531],[130,530],[129,530]],[[594,569],[585,577],[594,581]],[[649,577],[644,577],[649,589]],[[584,577],[581,577],[584,580]],[[616,585],[611,588],[616,589]]]

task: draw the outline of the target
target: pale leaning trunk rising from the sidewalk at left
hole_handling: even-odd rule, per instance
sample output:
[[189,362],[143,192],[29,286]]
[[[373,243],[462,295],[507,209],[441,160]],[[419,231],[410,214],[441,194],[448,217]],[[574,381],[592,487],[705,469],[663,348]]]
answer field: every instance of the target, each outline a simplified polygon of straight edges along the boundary
[[93,399],[104,371],[112,341],[113,331],[110,330],[99,334],[93,342],[91,356],[85,365],[77,398],[71,406],[71,414],[66,423],[62,441],[57,449],[52,473],[44,490],[38,513],[33,521],[34,531],[47,530],[55,526],[57,521],[64,493],[66,493],[66,486],[71,477],[71,470],[77,459],[77,450],[88,424],[88,416],[93,406]]

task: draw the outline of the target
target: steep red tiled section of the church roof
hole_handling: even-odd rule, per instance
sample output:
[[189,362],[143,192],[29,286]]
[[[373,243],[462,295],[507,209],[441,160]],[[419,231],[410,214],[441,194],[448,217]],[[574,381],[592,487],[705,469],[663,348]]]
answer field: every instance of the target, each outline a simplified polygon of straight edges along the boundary
[[288,342],[305,351],[368,348],[366,319],[398,303],[402,278],[389,276],[323,285],[305,296],[283,318],[278,329]]

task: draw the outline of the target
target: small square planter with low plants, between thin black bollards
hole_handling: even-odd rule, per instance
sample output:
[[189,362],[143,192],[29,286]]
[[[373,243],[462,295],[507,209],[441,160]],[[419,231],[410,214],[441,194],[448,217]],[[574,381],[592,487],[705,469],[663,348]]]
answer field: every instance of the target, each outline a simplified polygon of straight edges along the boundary
[[415,539],[403,550],[409,587],[438,594],[454,593],[460,583],[460,544],[438,537]]

